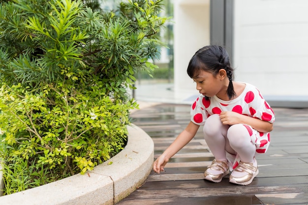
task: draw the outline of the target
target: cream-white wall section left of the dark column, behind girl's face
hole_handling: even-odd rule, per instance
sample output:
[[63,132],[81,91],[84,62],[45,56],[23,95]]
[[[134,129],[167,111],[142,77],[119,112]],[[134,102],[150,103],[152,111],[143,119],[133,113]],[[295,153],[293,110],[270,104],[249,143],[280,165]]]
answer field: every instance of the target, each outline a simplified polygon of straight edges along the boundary
[[174,90],[177,96],[198,94],[186,73],[194,53],[210,44],[210,0],[174,0]]

